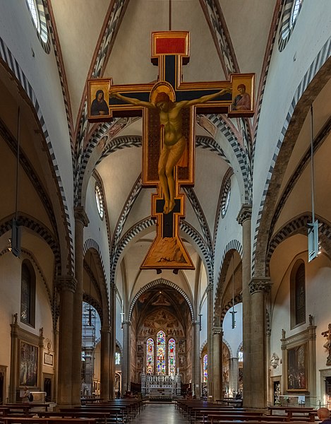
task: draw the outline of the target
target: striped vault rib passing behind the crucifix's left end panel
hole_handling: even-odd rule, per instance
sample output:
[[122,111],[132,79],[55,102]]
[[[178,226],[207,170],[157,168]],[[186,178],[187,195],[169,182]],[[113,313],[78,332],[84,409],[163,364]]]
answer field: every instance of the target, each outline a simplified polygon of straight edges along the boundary
[[[104,64],[107,63],[109,54],[112,50],[114,44],[114,37],[121,23],[121,17],[124,14],[128,0],[116,0],[112,2],[112,11],[109,13],[109,19],[106,27],[104,28],[104,34],[99,45],[97,52],[97,57],[95,63],[93,64],[92,71],[90,73],[90,78],[100,78],[104,72]],[[79,182],[80,182],[80,167],[82,163],[83,155],[83,145],[85,141],[85,136],[88,133],[88,99],[87,99],[87,89],[85,90],[85,100],[83,107],[80,110],[80,119],[79,126],[76,136],[76,166],[74,167],[75,172],[75,187],[74,187],[74,199],[76,200],[76,206],[78,206],[78,194],[79,194]]]

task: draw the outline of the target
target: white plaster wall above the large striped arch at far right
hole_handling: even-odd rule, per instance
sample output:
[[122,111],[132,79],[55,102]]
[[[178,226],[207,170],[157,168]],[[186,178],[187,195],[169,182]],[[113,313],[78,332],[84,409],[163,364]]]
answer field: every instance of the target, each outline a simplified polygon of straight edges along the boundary
[[277,141],[281,136],[291,101],[304,74],[311,66],[321,47],[330,37],[330,16],[330,1],[303,1],[296,26],[282,52],[279,52],[278,49],[277,34],[270,61],[266,89],[263,95],[260,124],[256,138],[252,228],[255,228],[256,225],[272,156],[275,153]]

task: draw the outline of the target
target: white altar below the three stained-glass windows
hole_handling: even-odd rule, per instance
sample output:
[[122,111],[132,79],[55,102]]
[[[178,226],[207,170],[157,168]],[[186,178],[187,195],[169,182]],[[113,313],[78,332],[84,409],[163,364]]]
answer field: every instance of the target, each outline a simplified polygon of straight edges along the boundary
[[[146,375],[141,374],[141,394],[157,396],[158,399],[172,399],[172,396],[181,395],[181,377],[177,375]],[[153,398],[154,399],[154,398]]]

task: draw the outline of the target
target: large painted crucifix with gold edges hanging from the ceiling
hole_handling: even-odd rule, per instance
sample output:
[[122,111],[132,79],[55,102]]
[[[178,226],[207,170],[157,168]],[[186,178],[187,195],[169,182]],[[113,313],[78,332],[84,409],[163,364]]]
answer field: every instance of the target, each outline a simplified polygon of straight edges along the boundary
[[[185,83],[181,67],[188,59],[188,32],[152,33],[157,83],[115,86],[111,79],[89,81],[90,122],[143,116],[143,187],[157,187],[152,195],[157,237],[141,269],[194,269],[179,237],[179,218],[185,216],[181,187],[194,185],[195,114],[251,117],[254,113],[253,74],[234,74],[230,81]],[[109,105],[109,114],[103,102]]]

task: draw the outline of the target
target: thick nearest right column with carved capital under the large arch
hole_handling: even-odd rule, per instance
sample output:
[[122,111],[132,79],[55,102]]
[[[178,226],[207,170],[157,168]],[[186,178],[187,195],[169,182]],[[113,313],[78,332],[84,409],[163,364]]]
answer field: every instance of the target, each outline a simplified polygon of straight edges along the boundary
[[[267,407],[267,335],[265,293],[270,278],[253,278],[251,290],[251,407]],[[243,327],[245,328],[245,327]]]

